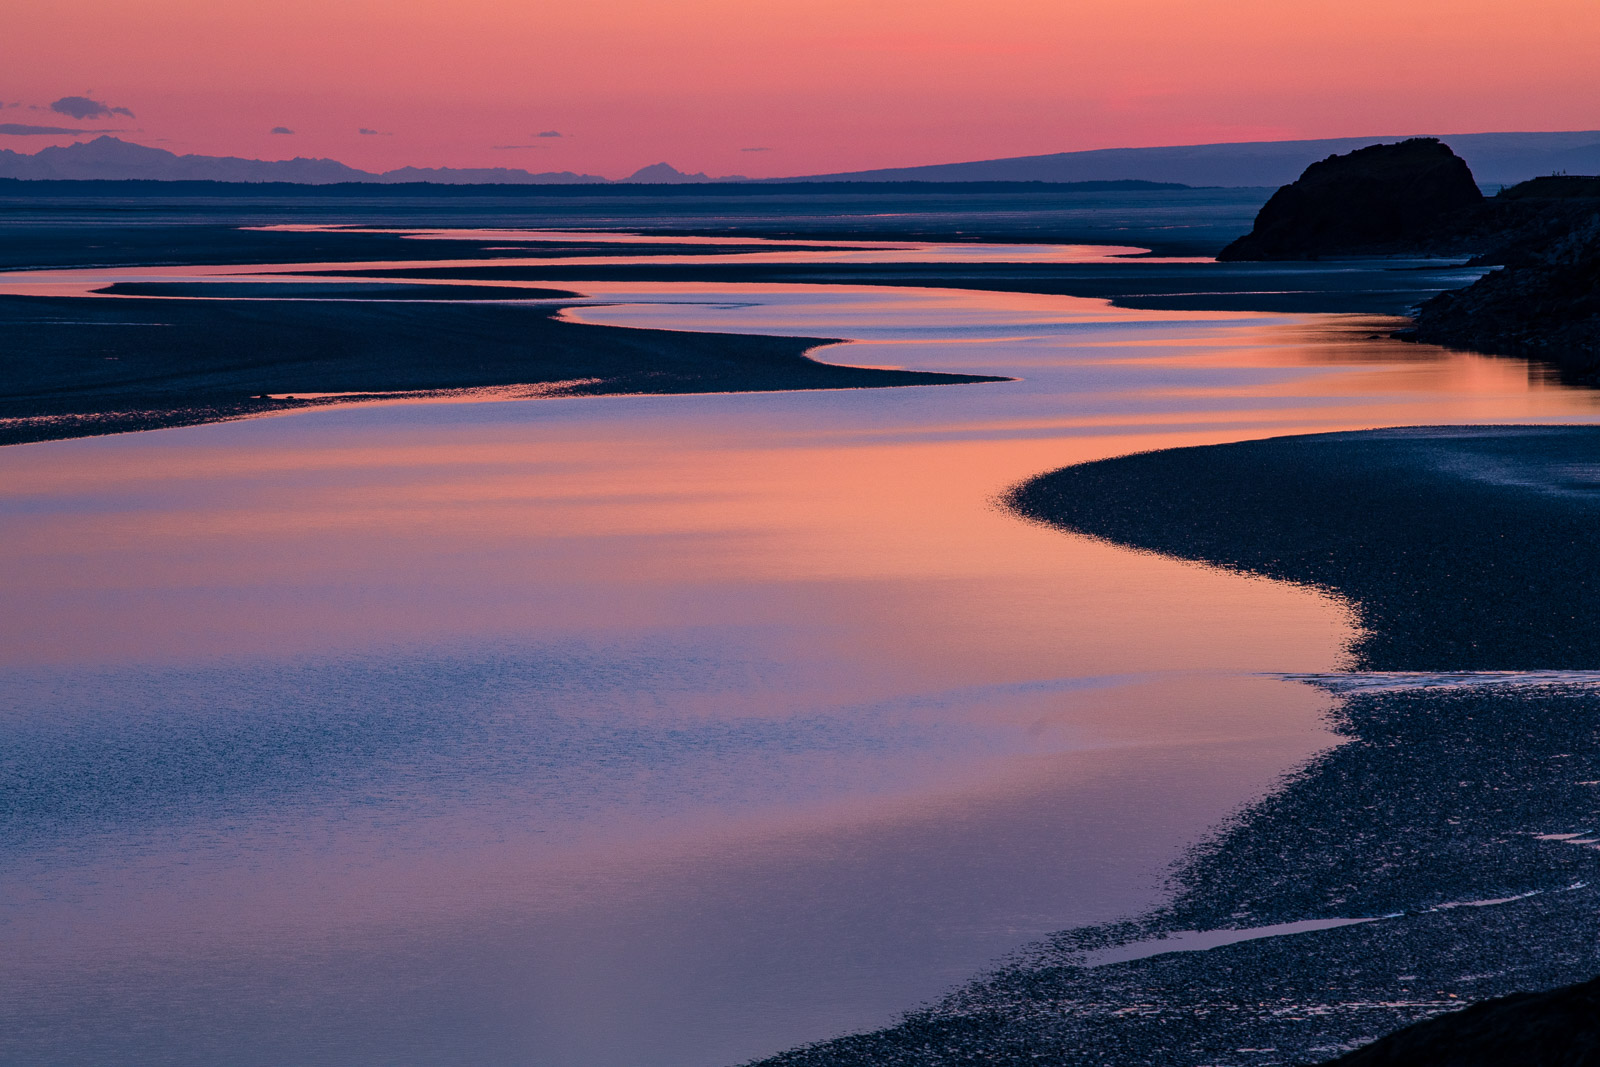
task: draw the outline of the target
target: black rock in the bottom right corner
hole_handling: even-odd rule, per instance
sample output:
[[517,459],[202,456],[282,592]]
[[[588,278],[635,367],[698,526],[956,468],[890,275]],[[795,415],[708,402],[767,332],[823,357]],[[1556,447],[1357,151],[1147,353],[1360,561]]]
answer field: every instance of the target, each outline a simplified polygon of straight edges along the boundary
[[1600,1062],[1600,979],[1485,1000],[1397,1030],[1328,1067],[1579,1067]]

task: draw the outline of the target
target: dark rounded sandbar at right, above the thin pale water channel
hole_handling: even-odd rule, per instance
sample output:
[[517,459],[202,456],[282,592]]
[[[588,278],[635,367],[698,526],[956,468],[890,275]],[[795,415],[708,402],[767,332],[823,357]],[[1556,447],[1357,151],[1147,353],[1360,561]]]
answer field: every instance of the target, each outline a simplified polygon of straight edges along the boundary
[[1354,601],[1365,670],[1600,667],[1600,427],[1422,427],[1067,467],[1011,506]]

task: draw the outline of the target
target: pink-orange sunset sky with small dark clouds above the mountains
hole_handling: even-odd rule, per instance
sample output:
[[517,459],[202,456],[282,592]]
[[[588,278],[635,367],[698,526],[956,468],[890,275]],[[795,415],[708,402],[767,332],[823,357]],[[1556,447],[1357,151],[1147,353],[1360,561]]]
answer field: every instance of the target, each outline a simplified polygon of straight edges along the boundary
[[[70,0],[6,13],[0,130],[365,170],[770,178],[1595,130],[1595,56],[1597,0]],[[102,107],[51,109],[74,98]]]

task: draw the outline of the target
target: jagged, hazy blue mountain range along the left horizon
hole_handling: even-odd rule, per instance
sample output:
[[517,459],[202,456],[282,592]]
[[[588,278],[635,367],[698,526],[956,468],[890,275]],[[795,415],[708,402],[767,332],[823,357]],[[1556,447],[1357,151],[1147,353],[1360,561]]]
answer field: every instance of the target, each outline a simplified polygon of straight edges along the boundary
[[605,178],[557,171],[530,174],[494,168],[405,166],[374,174],[338,160],[245,160],[235,155],[176,155],[166,149],[130,144],[102,136],[66,147],[45,147],[34,155],[0,149],[0,178],[160,179],[160,181],[288,181],[309,186],[331,182],[443,182],[443,184],[594,184]]

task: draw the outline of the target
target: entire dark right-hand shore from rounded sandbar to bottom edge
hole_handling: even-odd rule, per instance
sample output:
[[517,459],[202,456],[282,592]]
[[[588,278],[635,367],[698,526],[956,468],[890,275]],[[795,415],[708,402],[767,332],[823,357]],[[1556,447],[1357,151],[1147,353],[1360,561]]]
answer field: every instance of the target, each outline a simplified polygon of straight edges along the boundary
[[[1594,977],[1600,691],[1560,670],[1597,664],[1595,472],[1600,427],[1438,427],[1125,456],[1019,486],[1013,507],[1067,531],[1347,600],[1358,670],[1307,680],[1338,694],[1344,744],[1195,848],[1162,910],[1066,931],[896,1027],[770,1062],[1309,1064]],[[1469,670],[1514,673],[1450,673]]]

